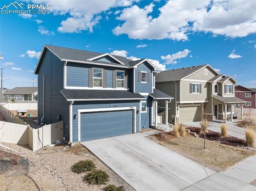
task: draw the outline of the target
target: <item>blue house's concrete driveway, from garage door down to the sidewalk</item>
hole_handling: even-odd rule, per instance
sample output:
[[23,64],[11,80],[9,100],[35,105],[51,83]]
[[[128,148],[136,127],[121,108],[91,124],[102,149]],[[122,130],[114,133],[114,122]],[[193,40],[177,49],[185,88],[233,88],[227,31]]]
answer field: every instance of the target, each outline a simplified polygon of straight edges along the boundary
[[140,134],[81,144],[138,191],[182,190],[215,173]]

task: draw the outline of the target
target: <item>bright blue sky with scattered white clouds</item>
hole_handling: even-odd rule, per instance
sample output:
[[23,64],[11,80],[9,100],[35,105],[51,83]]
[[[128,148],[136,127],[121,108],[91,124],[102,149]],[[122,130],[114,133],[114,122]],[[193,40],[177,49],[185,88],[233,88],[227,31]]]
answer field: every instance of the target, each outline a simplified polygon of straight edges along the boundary
[[148,58],[160,71],[210,64],[256,88],[255,0],[1,0],[0,8],[8,89],[37,86],[44,44]]

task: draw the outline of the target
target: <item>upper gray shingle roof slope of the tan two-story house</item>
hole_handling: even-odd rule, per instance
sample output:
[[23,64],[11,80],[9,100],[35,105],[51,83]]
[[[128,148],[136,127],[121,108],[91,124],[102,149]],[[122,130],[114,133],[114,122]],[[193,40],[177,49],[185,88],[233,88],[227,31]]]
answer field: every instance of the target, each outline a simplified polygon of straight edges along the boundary
[[199,69],[205,67],[206,65],[208,64],[162,71],[156,75],[156,82],[168,82],[168,81],[180,80],[198,71]]

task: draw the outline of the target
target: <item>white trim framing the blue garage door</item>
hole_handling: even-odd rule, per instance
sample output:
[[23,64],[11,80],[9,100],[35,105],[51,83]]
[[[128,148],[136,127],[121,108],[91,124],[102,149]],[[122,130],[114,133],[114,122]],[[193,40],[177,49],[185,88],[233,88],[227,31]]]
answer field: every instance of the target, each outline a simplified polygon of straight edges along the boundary
[[102,112],[102,111],[119,111],[119,110],[133,110],[133,123],[132,123],[132,133],[136,132],[136,107],[114,107],[114,108],[95,108],[95,109],[78,109],[78,142],[81,141],[81,125],[80,125],[80,118],[81,113],[86,112]]

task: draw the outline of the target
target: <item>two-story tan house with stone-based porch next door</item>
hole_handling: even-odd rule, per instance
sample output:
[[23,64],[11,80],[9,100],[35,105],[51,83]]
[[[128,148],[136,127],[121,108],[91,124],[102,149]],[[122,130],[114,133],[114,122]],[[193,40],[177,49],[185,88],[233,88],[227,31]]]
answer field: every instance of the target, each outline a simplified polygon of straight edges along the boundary
[[[198,121],[203,114],[211,120],[232,120],[234,104],[245,102],[234,95],[236,83],[232,77],[219,74],[208,64],[156,75],[156,88],[174,97],[168,105],[168,120],[174,123]],[[158,105],[164,107],[161,102]]]

